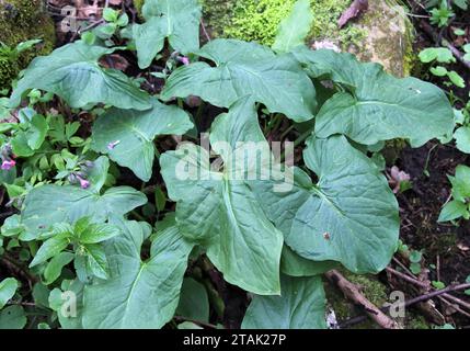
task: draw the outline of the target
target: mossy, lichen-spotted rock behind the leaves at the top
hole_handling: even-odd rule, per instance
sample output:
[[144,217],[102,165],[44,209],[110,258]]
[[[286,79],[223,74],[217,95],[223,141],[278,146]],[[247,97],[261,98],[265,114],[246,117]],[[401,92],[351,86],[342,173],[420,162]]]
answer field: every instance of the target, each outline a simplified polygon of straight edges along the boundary
[[[280,21],[296,0],[200,0],[204,21],[215,37],[272,45]],[[408,76],[413,61],[413,26],[396,0],[369,1],[359,19],[339,29],[337,20],[352,0],[312,0],[310,44],[328,41],[364,61],[382,64],[389,72]]]

